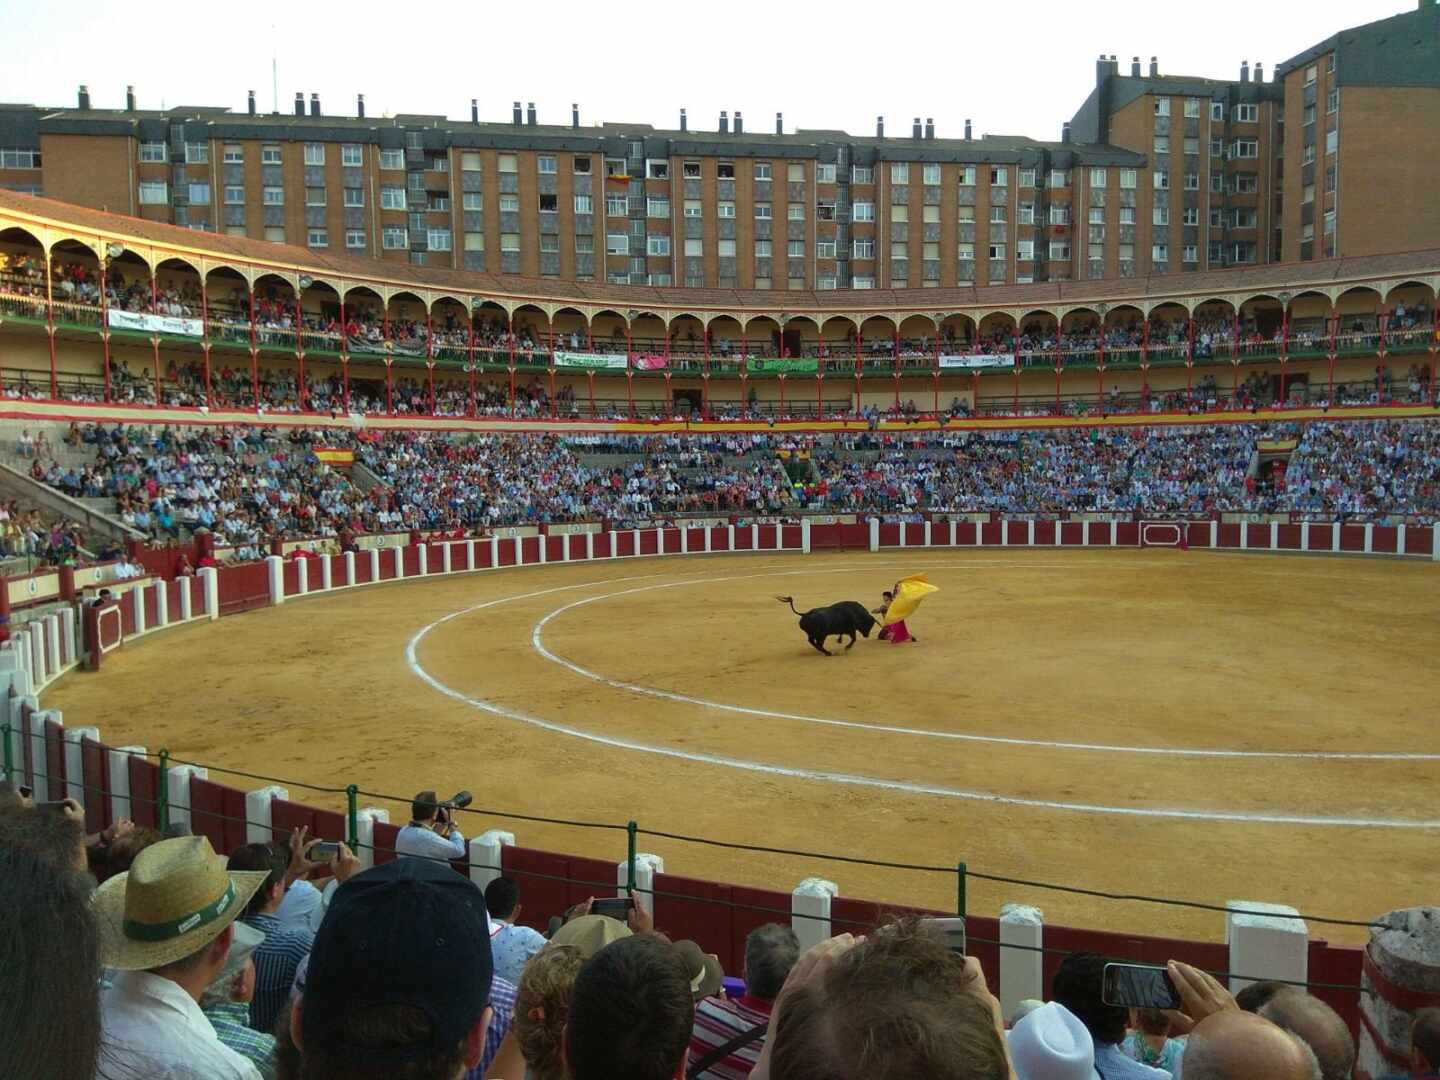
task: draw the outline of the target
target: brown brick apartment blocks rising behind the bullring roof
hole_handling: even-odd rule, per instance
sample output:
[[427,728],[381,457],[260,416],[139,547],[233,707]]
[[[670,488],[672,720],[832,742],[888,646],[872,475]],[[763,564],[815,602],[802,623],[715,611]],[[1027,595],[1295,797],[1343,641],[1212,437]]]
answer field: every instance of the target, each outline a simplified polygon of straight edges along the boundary
[[[1341,138],[1344,118],[1345,137]],[[1440,246],[1440,12],[1266,81],[1096,63],[1058,141],[0,105],[0,187],[387,262],[694,288],[955,288]]]

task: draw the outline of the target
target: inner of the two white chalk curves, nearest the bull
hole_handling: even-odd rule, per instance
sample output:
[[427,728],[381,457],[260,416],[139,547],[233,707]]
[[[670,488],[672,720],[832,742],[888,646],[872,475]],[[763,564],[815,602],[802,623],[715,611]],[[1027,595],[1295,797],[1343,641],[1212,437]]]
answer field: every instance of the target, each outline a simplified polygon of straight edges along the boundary
[[[1024,563],[995,563],[986,562],[986,566],[1015,566]],[[1034,569],[1034,567],[1031,567]],[[772,720],[795,720],[806,724],[821,724],[825,727],[848,727],[860,732],[880,732],[884,734],[904,734],[914,736],[920,739],[948,739],[953,742],[965,743],[991,743],[998,746],[1034,746],[1047,750],[1086,750],[1092,753],[1139,753],[1139,755],[1155,755],[1164,757],[1263,757],[1263,759],[1299,759],[1299,760],[1320,760],[1320,762],[1440,762],[1440,753],[1403,753],[1403,752],[1339,752],[1339,750],[1223,750],[1223,749],[1205,749],[1205,747],[1178,747],[1178,746],[1119,746],[1112,743],[1070,743],[1057,742],[1050,739],[1020,739],[1017,736],[998,736],[998,734],[973,734],[966,732],[937,732],[926,727],[900,727],[896,724],[871,724],[861,720],[837,720],[834,717],[808,716],[805,713],[780,713],[772,708],[752,708],[749,706],[736,706],[727,701],[711,701],[703,697],[693,697],[690,694],[680,694],[672,690],[661,690],[658,687],[647,687],[638,683],[625,683],[618,678],[609,678],[598,671],[592,671],[580,664],[576,664],[566,657],[559,655],[544,644],[544,628],[559,616],[576,608],[583,608],[589,603],[598,603],[600,600],[609,600],[616,596],[631,596],[634,593],[654,592],[657,589],[675,589],[685,585],[704,585],[711,582],[736,582],[750,577],[780,577],[792,573],[842,573],[844,570],[808,570],[808,572],[785,572],[785,573],[747,573],[736,575],[733,577],[697,577],[681,582],[662,582],[660,585],[644,585],[635,589],[622,589],[621,592],[602,593],[600,596],[588,596],[582,600],[575,600],[573,603],[566,603],[560,608],[544,615],[530,632],[530,645],[541,657],[549,660],[552,664],[559,664],[567,668],[582,678],[589,678],[602,685],[611,687],[612,690],[624,690],[631,694],[641,694],[645,697],[662,698],[665,701],[677,701],[688,706],[698,706],[701,708],[711,708],[724,713],[737,713],[740,716],[759,716]]]

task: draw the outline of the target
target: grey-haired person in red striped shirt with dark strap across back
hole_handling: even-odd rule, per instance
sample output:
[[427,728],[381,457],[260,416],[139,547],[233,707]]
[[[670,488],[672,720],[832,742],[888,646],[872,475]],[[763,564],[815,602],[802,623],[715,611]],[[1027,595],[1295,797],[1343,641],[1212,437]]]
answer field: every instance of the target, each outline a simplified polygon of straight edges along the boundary
[[[760,1060],[770,1009],[799,955],[801,946],[791,927],[766,923],[750,930],[744,939],[744,994],[733,1001],[707,996],[696,1004],[690,1063],[691,1068],[704,1063],[696,1076],[734,1080],[750,1074]],[[753,1041],[732,1045],[755,1030],[759,1035]],[[719,1053],[727,1045],[730,1050]]]

